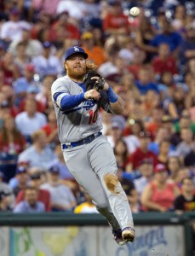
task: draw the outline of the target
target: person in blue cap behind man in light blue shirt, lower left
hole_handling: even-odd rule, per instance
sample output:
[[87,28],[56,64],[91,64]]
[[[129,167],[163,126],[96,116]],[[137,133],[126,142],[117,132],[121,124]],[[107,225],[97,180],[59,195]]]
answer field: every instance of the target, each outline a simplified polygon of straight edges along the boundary
[[[25,167],[19,166],[15,172],[15,179],[17,180],[17,185],[13,188],[15,197],[19,194],[20,190],[26,189],[28,182],[28,173]],[[9,183],[10,186],[10,183]]]

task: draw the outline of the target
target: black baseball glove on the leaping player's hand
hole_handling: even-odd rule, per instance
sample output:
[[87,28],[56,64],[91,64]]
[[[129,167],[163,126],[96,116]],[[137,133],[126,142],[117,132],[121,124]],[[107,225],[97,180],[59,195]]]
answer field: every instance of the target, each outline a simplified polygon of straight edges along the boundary
[[[100,79],[91,79],[93,77],[99,77]],[[110,102],[108,101],[108,96],[104,88],[105,80],[100,76],[99,73],[95,71],[89,71],[83,76],[83,84],[86,90],[95,89],[100,92],[100,100],[97,102],[99,108],[103,108],[107,113],[113,113]]]

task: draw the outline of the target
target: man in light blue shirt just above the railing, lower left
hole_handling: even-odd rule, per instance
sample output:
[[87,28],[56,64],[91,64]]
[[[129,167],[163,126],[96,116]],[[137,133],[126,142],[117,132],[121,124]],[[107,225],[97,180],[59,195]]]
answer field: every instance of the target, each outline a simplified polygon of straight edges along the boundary
[[25,199],[14,207],[14,213],[45,212],[43,202],[38,201],[38,192],[34,187],[26,187]]

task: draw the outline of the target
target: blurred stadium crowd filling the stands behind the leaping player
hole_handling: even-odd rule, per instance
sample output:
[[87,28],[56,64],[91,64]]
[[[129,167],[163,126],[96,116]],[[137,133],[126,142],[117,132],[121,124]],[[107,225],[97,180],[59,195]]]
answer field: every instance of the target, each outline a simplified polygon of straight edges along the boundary
[[51,100],[73,45],[125,103],[100,114],[132,212],[195,211],[194,1],[1,0],[0,212],[97,212]]

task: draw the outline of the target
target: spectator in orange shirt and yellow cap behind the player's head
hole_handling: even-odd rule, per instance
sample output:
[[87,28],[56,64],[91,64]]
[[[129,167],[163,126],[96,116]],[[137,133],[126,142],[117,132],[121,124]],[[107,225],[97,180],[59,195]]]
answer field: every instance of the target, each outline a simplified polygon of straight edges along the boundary
[[88,54],[88,60],[100,67],[106,61],[104,49],[95,45],[95,39],[92,32],[83,32],[81,35],[81,44],[84,51]]

